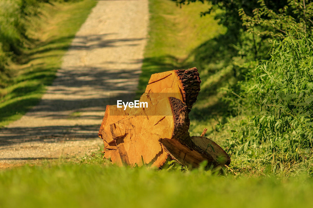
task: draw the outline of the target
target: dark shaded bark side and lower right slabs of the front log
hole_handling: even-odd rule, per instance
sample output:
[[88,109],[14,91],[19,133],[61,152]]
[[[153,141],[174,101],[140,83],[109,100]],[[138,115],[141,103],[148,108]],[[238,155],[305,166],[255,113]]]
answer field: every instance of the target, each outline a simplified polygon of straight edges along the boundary
[[[229,164],[229,156],[215,142],[211,140],[206,141],[204,140],[205,137],[189,136],[188,129],[190,121],[188,113],[181,111],[181,109],[187,106],[178,99],[169,99],[172,100],[171,105],[172,111],[174,112],[175,127],[171,139],[160,139],[164,150],[182,165],[198,167],[200,163],[205,160],[213,166]],[[195,144],[195,142],[197,142],[197,144]]]

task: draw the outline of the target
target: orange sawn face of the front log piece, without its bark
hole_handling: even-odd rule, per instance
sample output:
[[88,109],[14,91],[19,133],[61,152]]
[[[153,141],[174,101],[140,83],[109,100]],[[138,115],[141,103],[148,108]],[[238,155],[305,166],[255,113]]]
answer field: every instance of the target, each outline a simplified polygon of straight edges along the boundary
[[[171,138],[175,128],[171,103],[171,98],[164,98],[143,109],[140,115],[127,117],[110,125],[123,163],[130,166],[149,164],[156,167],[164,164],[168,154],[163,151],[159,140]],[[187,107],[182,111],[188,113]]]

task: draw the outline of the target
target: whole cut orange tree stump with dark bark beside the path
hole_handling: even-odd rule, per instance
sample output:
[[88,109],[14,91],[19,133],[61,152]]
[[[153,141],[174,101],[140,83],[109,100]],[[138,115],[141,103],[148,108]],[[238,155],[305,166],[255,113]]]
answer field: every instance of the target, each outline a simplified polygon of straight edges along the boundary
[[119,166],[162,167],[168,160],[198,167],[230,163],[228,154],[214,141],[190,136],[188,113],[200,91],[197,68],[156,73],[141,96],[148,107],[106,106],[99,130],[105,158]]

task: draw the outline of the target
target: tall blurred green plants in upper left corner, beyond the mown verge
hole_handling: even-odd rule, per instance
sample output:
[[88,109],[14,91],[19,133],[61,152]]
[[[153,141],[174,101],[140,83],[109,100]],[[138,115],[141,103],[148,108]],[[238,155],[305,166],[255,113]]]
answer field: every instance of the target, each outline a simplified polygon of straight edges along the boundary
[[[12,84],[14,73],[8,64],[16,62],[30,46],[28,36],[30,18],[40,14],[43,3],[52,4],[53,0],[0,0],[0,88]],[[58,2],[63,2],[59,0]],[[67,1],[66,1],[67,2]]]

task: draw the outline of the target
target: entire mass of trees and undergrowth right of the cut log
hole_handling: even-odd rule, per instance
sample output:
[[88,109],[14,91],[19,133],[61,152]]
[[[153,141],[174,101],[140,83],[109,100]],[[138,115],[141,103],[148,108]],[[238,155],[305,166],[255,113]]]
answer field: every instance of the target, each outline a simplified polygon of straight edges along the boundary
[[[232,154],[235,171],[312,175],[313,2],[199,1],[213,5],[202,14],[223,10],[216,18],[228,28],[224,36],[230,41],[216,54],[211,52],[212,44],[196,48],[195,58],[204,68],[200,75],[233,71],[234,77],[215,88],[212,80],[202,83],[202,92],[226,95],[207,107],[213,97],[199,95],[195,107],[201,113],[192,113],[191,122],[200,121],[204,127],[217,123],[209,137],[222,138],[220,144]],[[212,71],[221,61],[220,71]],[[216,112],[219,115],[213,120],[203,116]],[[230,137],[231,130],[235,132]]]

